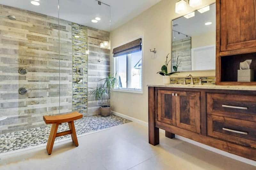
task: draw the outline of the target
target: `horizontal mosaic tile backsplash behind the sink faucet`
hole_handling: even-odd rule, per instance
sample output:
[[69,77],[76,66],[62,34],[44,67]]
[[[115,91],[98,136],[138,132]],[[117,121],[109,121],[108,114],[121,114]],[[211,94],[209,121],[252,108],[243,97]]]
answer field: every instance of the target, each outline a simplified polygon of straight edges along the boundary
[[[193,77],[194,83],[199,84],[200,78],[204,78],[204,80],[202,80],[202,83],[205,85],[215,85],[215,76]],[[171,84],[183,84],[184,79],[186,79],[187,84],[190,84],[190,78],[188,77],[171,78]]]

